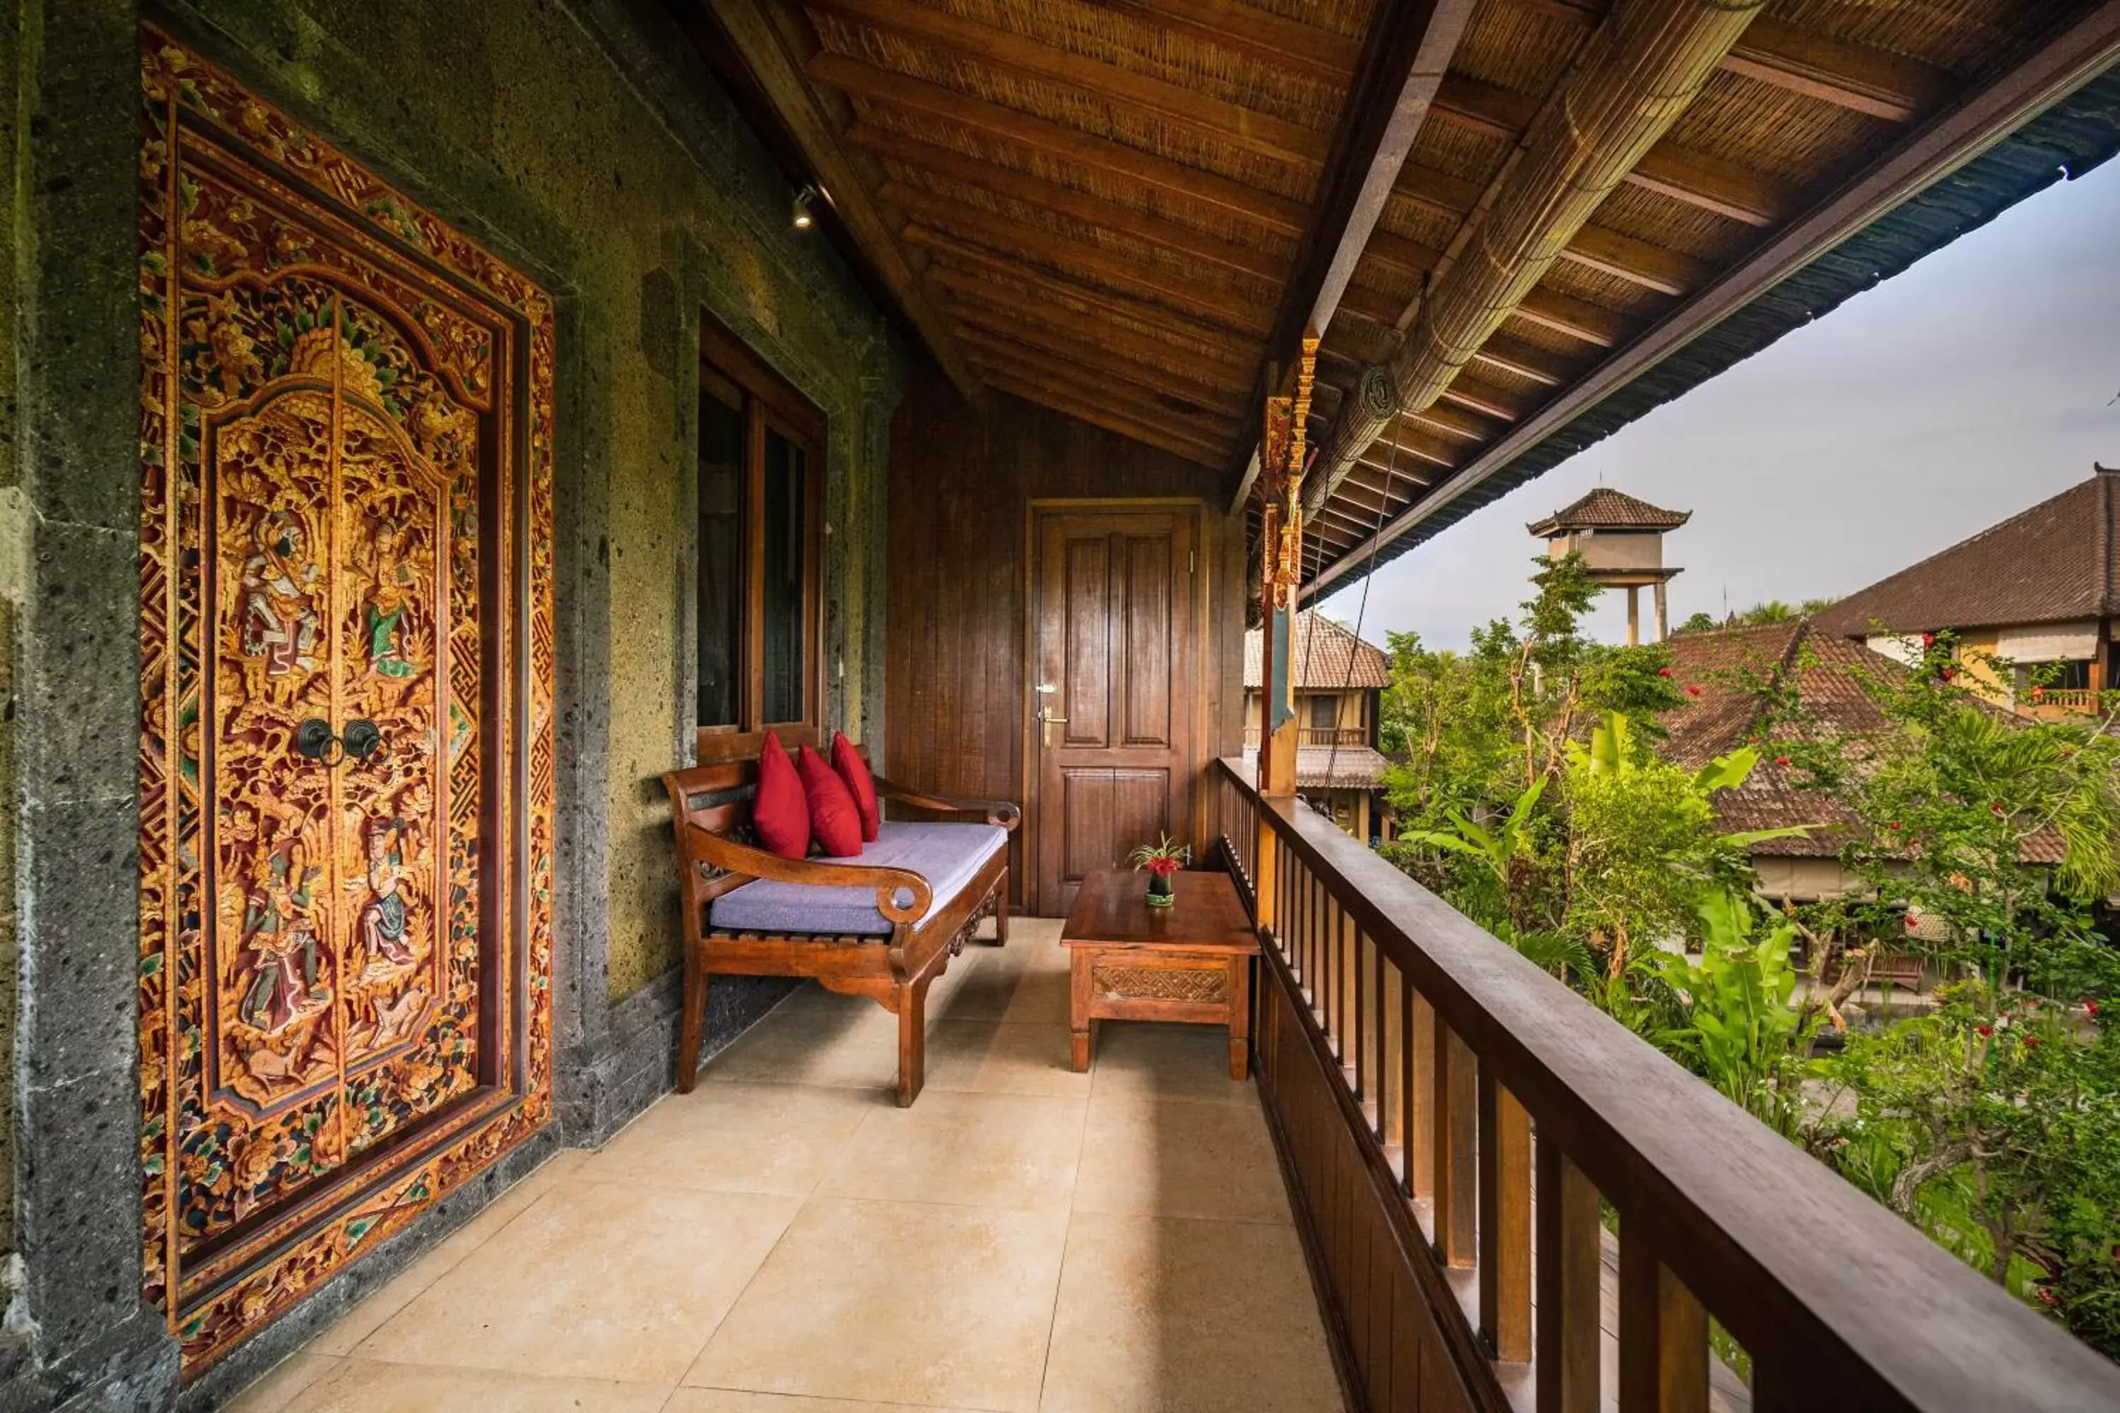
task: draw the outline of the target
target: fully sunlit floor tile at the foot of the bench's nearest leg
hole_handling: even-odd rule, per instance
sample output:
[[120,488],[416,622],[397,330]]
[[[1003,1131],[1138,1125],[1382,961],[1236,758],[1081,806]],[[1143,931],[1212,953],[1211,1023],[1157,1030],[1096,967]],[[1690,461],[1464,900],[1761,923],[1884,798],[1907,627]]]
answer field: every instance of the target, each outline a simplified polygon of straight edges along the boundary
[[818,1195],[1066,1212],[1088,1099],[926,1089],[873,1108]]

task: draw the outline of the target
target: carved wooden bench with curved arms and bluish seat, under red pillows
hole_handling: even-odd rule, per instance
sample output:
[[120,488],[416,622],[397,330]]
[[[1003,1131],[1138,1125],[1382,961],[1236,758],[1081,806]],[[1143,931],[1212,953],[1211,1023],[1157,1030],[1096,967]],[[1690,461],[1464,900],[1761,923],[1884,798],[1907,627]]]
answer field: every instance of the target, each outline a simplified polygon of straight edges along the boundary
[[[791,750],[799,741],[782,739]],[[924,794],[878,775],[878,805],[958,822],[886,818],[863,860],[782,858],[761,849],[750,830],[757,777],[755,744],[744,758],[664,775],[687,941],[678,1093],[691,1093],[697,1080],[708,977],[814,977],[899,1017],[899,1106],[907,1106],[924,1078],[929,985],[988,913],[996,941],[1009,941],[1007,835],[1022,811],[1007,801]],[[965,824],[967,816],[979,824]],[[729,926],[731,915],[763,926]]]

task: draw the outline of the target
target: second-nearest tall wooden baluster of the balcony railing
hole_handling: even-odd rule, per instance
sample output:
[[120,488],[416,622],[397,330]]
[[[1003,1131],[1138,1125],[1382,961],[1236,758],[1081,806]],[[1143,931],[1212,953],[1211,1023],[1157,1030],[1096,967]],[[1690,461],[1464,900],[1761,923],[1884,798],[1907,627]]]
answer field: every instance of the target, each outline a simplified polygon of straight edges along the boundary
[[1598,1413],[1603,1356],[1603,1224],[1590,1178],[1541,1127],[1539,1150],[1539,1409]]

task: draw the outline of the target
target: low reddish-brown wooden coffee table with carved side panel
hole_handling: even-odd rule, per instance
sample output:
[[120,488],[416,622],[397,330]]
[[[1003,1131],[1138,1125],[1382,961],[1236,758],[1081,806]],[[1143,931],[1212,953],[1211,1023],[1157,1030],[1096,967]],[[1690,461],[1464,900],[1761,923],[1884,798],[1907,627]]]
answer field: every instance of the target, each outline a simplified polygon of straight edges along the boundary
[[1060,932],[1073,953],[1073,1063],[1090,1068],[1092,1021],[1189,1021],[1230,1027],[1230,1078],[1240,1080],[1259,934],[1227,873],[1187,871],[1170,883],[1177,900],[1149,907],[1145,873],[1100,869],[1081,881]]

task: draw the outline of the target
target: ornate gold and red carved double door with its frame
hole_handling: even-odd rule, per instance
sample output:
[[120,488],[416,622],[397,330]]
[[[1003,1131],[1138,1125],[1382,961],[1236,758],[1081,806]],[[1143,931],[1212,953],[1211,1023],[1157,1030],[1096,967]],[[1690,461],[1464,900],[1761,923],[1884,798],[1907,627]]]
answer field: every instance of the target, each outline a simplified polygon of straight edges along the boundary
[[146,32],[142,1157],[187,1371],[549,1112],[551,303]]

